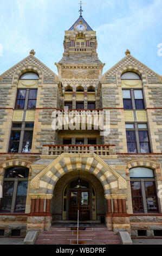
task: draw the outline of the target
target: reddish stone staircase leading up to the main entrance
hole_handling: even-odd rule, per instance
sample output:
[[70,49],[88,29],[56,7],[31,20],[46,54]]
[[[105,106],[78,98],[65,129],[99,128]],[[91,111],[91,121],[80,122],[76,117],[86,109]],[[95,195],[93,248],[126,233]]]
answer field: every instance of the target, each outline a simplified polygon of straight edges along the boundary
[[[74,245],[77,243],[76,227],[50,227],[37,236],[36,245]],[[120,245],[118,235],[106,227],[79,227],[80,245]]]

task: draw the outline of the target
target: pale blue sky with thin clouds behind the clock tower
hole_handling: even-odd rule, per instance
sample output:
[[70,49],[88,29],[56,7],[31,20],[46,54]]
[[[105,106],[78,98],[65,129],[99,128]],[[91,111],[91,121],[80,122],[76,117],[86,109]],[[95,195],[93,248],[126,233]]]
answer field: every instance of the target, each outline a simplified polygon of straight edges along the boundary
[[[99,59],[106,72],[132,56],[162,75],[161,0],[85,0],[83,18],[96,31]],[[56,72],[63,53],[64,31],[79,17],[79,0],[0,0],[0,74],[29,55]],[[0,51],[1,53],[1,51]]]

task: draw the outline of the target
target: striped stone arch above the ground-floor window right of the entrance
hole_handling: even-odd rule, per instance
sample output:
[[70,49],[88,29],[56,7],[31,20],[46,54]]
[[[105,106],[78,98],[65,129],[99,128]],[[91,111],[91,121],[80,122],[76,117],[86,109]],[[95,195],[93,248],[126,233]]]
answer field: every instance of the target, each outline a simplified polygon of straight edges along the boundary
[[147,168],[152,168],[155,172],[156,175],[160,176],[162,175],[161,171],[161,164],[160,163],[155,163],[150,160],[133,160],[127,163],[127,168],[126,168],[126,175],[129,176],[129,169],[133,167],[147,167]]

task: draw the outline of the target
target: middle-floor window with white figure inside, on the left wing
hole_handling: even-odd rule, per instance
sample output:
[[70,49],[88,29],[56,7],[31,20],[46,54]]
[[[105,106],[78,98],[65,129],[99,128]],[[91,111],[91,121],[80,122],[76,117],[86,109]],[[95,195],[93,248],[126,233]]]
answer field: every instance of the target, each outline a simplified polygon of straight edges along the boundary
[[34,123],[12,123],[9,153],[31,153]]

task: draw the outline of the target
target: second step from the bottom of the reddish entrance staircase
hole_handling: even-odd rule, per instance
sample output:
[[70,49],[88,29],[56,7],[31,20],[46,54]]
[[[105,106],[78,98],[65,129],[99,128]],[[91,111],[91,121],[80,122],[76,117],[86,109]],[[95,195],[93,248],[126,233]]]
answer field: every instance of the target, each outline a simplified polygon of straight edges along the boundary
[[[77,239],[77,235],[38,235],[37,239]],[[80,240],[94,239],[94,240],[119,240],[118,235],[79,235]]]

